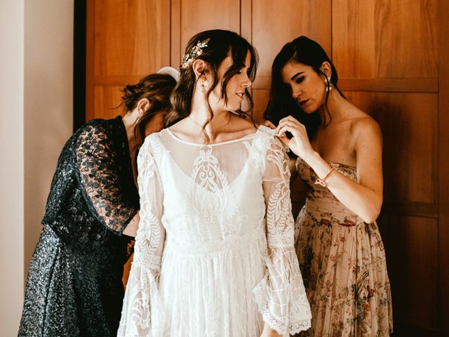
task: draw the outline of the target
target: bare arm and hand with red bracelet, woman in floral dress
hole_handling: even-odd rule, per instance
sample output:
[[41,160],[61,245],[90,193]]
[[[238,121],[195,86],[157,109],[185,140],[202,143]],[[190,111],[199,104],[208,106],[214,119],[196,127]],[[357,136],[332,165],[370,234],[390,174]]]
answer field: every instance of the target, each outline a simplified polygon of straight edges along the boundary
[[[373,119],[361,119],[354,126],[356,169],[358,183],[333,170],[329,164],[313,150],[305,127],[289,116],[281,119],[276,128],[279,138],[311,166],[316,175],[326,178],[326,186],[344,206],[360,216],[366,223],[373,223],[382,206],[382,134]],[[290,140],[285,132],[293,134]]]

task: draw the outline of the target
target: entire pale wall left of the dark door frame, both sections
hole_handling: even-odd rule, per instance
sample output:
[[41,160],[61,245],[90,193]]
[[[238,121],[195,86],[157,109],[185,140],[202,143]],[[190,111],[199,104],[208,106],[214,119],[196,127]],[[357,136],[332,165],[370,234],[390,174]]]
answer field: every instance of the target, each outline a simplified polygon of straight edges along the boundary
[[29,260],[72,133],[74,0],[0,0],[0,335],[17,336]]

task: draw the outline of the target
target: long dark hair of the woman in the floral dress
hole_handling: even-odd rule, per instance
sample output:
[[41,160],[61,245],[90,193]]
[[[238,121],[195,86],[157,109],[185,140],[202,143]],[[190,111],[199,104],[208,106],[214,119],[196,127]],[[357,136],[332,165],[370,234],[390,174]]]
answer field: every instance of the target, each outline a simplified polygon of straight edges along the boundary
[[[320,126],[325,123],[325,116],[323,114],[306,114],[302,111],[299,105],[293,100],[291,95],[290,86],[286,85],[282,81],[281,70],[288,62],[302,63],[303,65],[309,65],[319,75],[325,77],[326,86],[330,87],[329,81],[326,79],[326,75],[320,70],[323,62],[329,62],[332,74],[330,82],[333,88],[337,90],[342,97],[344,97],[342,91],[337,86],[338,74],[333,62],[330,60],[326,51],[316,41],[309,39],[308,37],[297,37],[291,42],[288,42],[282,47],[281,51],[276,58],[274,58],[272,65],[272,84],[269,92],[269,101],[267,108],[264,111],[264,118],[269,119],[274,124],[278,124],[279,120],[293,115],[297,118],[307,129],[307,135],[309,139],[314,137],[314,134]],[[326,91],[326,112],[328,112],[328,98],[329,92]],[[329,114],[330,117],[330,114]]]

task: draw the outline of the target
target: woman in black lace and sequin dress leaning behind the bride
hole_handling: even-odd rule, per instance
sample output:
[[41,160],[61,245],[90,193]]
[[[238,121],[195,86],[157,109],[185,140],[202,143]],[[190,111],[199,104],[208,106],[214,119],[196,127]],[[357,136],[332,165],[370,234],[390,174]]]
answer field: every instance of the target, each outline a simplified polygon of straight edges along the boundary
[[123,264],[138,225],[135,152],[163,127],[176,81],[123,90],[126,114],[88,121],[58,159],[29,265],[19,336],[116,336]]

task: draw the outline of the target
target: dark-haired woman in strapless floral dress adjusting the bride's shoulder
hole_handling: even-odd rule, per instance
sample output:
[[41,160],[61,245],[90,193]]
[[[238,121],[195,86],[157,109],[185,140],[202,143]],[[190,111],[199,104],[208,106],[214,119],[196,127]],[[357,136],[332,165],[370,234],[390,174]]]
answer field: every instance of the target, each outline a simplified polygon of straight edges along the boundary
[[298,37],[274,59],[265,112],[297,155],[292,171],[307,187],[296,222],[312,312],[304,336],[388,336],[390,284],[375,223],[382,136],[375,120],[344,98],[337,80],[323,48]]

